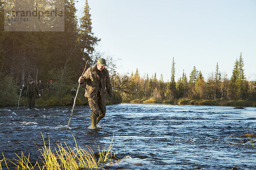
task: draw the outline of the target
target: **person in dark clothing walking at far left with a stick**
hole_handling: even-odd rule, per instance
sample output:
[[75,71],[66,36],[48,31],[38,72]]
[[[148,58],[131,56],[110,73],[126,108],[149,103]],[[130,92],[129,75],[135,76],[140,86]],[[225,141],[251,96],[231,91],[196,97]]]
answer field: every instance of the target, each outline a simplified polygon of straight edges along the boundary
[[26,90],[26,96],[28,99],[29,109],[35,108],[35,99],[37,98],[37,95],[40,97],[40,91],[38,86],[33,83],[33,79],[29,79],[29,82],[27,82],[25,85],[22,85],[24,87],[24,90]]

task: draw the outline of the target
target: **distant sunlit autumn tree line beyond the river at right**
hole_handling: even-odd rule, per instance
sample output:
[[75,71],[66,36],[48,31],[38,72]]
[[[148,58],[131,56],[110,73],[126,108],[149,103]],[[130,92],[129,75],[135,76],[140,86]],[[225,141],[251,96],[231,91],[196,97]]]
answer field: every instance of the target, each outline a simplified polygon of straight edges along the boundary
[[244,73],[242,54],[233,65],[230,78],[222,75],[216,64],[215,71],[208,79],[195,66],[189,75],[183,70],[182,76],[175,81],[175,61],[172,60],[171,79],[163,81],[163,74],[157,79],[156,74],[141,77],[137,70],[129,75],[116,74],[112,77],[113,86],[122,90],[124,99],[152,99],[154,101],[173,101],[176,99],[225,99],[256,100],[256,81],[247,81]]

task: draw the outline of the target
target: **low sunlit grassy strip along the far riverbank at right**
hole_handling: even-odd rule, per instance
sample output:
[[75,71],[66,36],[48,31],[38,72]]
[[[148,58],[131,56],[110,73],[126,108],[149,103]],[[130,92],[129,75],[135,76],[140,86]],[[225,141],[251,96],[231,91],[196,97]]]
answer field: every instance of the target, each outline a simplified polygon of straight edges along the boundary
[[171,105],[211,105],[211,106],[239,106],[256,107],[256,101],[247,100],[209,100],[209,99],[178,99],[178,100],[155,100],[155,99],[123,99],[123,103],[151,103]]

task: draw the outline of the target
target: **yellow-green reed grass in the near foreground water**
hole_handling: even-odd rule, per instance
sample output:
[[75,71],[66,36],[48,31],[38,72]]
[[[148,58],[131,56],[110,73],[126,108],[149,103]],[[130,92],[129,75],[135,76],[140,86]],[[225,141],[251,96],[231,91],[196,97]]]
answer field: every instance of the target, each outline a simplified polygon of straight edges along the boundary
[[[36,161],[35,165],[32,166],[32,164],[29,161],[29,156],[24,156],[23,152],[21,152],[21,156],[17,156],[17,159],[9,160],[6,159],[3,155],[3,159],[0,160],[0,170],[2,170],[1,163],[4,161],[7,169],[9,170],[8,163],[12,163],[17,170],[33,170],[36,166],[38,166],[38,169],[40,170],[81,170],[81,169],[98,169],[98,164],[102,161],[108,161],[112,159],[112,151],[113,148],[113,139],[111,141],[110,146],[108,149],[105,149],[103,146],[102,152],[99,150],[99,160],[96,160],[95,154],[93,153],[93,150],[86,146],[86,149],[83,149],[79,146],[77,146],[76,139],[73,136],[76,147],[71,148],[68,147],[67,144],[64,142],[64,144],[57,144],[57,147],[54,147],[54,149],[51,149],[50,142],[47,146],[44,136],[41,133],[44,141],[44,146],[39,149],[39,152],[41,153],[41,156],[39,158],[41,159],[41,163]],[[49,137],[48,137],[49,138]],[[114,138],[114,135],[113,135]],[[50,139],[49,139],[50,141]],[[38,147],[38,146],[37,146]],[[99,146],[98,146],[99,147]],[[3,154],[3,153],[2,153]],[[114,153],[113,153],[114,154]],[[116,158],[113,156],[113,158]]]

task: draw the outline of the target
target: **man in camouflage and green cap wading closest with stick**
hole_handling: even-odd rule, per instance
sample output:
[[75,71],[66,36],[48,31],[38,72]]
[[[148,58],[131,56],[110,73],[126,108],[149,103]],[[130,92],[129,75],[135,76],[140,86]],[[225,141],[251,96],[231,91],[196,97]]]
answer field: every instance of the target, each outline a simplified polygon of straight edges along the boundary
[[110,77],[105,68],[106,60],[99,58],[97,64],[85,71],[83,76],[79,77],[78,82],[87,82],[84,96],[88,98],[88,103],[91,108],[91,125],[92,129],[96,127],[100,119],[106,113],[106,91],[113,98],[113,90],[110,82]]

